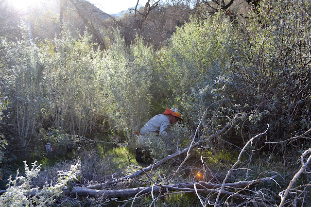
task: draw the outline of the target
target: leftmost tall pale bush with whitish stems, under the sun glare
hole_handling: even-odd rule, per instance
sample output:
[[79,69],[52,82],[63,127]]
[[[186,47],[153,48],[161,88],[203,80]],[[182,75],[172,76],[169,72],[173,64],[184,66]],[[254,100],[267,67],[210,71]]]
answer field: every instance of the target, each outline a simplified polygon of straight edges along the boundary
[[23,37],[26,40],[17,43],[2,41],[2,44],[11,65],[3,90],[11,100],[12,122],[22,147],[25,147],[42,121],[47,87],[43,70],[47,55],[43,48],[35,46],[27,34]]

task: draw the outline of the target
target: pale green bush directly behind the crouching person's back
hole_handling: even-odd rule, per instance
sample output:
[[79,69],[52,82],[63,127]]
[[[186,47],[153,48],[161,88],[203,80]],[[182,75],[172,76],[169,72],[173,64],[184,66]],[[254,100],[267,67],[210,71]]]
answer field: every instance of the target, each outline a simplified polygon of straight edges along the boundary
[[[99,71],[103,100],[112,125],[126,132],[129,145],[135,149],[135,131],[147,120],[150,108],[150,80],[154,53],[140,38],[126,48],[124,39],[116,34],[113,46],[104,53]],[[103,97],[104,98],[104,97]]]

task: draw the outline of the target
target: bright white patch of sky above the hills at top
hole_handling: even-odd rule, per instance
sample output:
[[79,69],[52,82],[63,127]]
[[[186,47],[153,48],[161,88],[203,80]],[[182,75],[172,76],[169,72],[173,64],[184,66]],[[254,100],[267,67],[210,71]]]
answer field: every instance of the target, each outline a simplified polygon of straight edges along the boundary
[[[138,0],[88,0],[107,14],[119,13],[131,7],[135,7]],[[147,0],[139,0],[139,4],[145,5]]]

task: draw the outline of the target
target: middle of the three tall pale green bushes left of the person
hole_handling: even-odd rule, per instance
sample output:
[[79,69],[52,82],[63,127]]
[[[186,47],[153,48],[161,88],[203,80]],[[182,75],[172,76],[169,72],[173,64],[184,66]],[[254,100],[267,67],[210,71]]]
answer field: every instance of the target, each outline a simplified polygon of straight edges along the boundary
[[49,59],[49,115],[62,132],[91,134],[101,110],[97,67],[93,61],[91,35],[76,39],[69,33],[54,40],[55,52]]

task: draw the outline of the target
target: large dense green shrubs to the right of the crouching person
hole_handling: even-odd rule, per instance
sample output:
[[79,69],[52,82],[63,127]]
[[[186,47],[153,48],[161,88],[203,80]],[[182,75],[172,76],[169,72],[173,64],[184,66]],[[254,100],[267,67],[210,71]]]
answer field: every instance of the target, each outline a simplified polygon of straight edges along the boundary
[[201,133],[212,134],[230,121],[235,132],[229,136],[240,136],[239,146],[266,123],[271,126],[271,141],[310,128],[310,39],[306,34],[311,22],[304,15],[309,7],[310,2],[263,0],[259,13],[250,12],[237,24],[219,12],[191,19],[177,29],[161,50],[160,63],[172,99],[191,127],[197,126],[207,109]]

